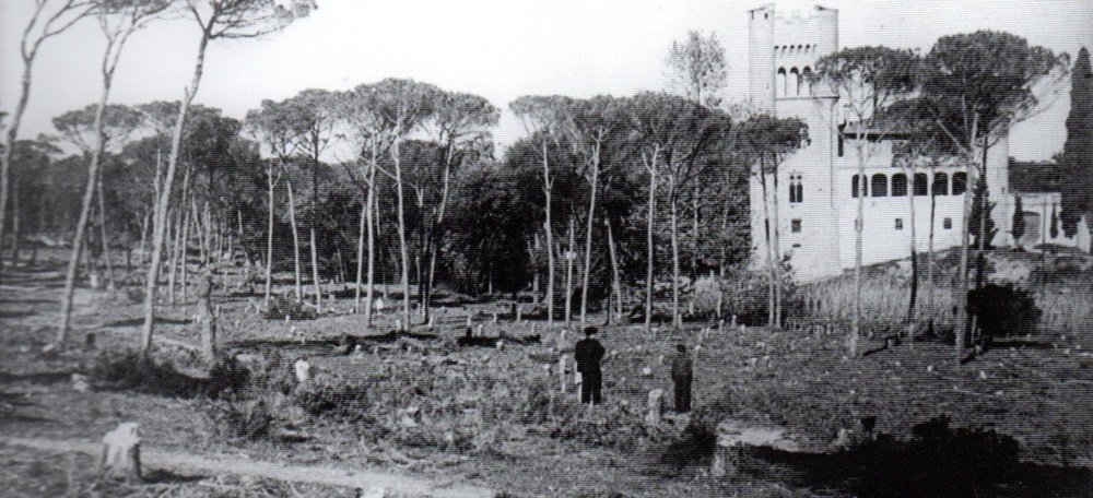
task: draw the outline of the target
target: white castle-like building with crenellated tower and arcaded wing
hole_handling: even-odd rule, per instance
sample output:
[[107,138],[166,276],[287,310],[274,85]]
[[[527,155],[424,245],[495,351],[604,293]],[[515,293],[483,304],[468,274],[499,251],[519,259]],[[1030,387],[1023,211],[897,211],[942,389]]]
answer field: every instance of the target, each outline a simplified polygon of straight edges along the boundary
[[[855,220],[858,209],[858,159],[854,133],[845,126],[842,105],[825,85],[811,87],[807,75],[816,60],[838,49],[838,11],[814,7],[806,14],[786,15],[773,4],[749,12],[749,81],[753,105],[777,118],[798,118],[809,127],[810,142],[786,158],[778,177],[765,181],[752,175],[750,185],[751,235],[754,263],[765,265],[773,251],[771,229],[778,230],[778,250],[789,258],[799,281],[841,274],[855,264]],[[822,86],[822,87],[821,87]],[[862,262],[873,264],[910,254],[910,214],[915,213],[918,251],[929,245],[931,193],[936,202],[933,249],[961,244],[963,192],[967,174],[956,161],[941,166],[902,168],[893,147],[900,137],[867,137]],[[1009,146],[1006,139],[990,147],[987,158],[988,199],[995,203],[991,220],[995,246],[1012,246],[1014,195],[1009,191]],[[765,188],[764,188],[765,183]],[[777,188],[775,188],[777,186]],[[764,195],[764,190],[766,194]],[[775,195],[777,205],[775,205]],[[1059,194],[1022,194],[1025,226],[1043,225],[1044,216],[1059,211]],[[777,216],[775,216],[777,212]],[[1041,216],[1034,218],[1034,214]],[[776,220],[769,229],[765,220]],[[1025,238],[1032,229],[1026,228]],[[1039,234],[1039,232],[1037,232]],[[1061,235],[1049,242],[1073,246]]]

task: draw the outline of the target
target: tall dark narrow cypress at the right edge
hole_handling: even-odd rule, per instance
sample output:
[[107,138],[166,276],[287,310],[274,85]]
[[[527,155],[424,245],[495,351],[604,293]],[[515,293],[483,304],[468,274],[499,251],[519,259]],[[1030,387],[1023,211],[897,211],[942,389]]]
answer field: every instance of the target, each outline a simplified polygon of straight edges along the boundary
[[1070,73],[1070,116],[1062,146],[1062,230],[1073,236],[1084,214],[1093,223],[1093,71],[1082,47]]

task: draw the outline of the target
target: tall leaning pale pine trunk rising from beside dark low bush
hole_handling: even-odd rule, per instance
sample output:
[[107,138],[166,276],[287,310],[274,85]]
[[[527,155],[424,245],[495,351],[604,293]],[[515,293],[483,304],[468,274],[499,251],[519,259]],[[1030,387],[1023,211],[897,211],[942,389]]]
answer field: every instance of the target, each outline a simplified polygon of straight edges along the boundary
[[183,127],[186,123],[186,114],[189,111],[190,103],[198,92],[201,83],[201,72],[204,67],[204,51],[209,45],[211,26],[207,26],[202,33],[201,42],[198,45],[197,62],[193,66],[193,80],[187,88],[178,110],[178,118],[175,121],[175,130],[171,140],[171,155],[167,157],[167,173],[164,176],[164,186],[156,206],[155,235],[152,239],[152,262],[148,271],[148,280],[144,285],[144,327],[141,330],[141,356],[149,359],[152,348],[152,334],[155,324],[155,290],[158,286],[160,261],[163,258],[163,239],[166,233],[167,206],[171,203],[171,187],[175,177],[175,169],[178,165],[178,153],[183,144]]

